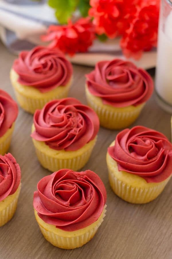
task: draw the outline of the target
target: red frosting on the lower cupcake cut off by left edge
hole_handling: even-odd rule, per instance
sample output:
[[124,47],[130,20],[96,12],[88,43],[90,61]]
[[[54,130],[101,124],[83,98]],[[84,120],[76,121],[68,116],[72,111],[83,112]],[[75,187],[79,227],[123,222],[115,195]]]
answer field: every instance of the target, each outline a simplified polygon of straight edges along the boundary
[[0,201],[17,191],[20,180],[20,167],[15,158],[10,153],[0,155]]

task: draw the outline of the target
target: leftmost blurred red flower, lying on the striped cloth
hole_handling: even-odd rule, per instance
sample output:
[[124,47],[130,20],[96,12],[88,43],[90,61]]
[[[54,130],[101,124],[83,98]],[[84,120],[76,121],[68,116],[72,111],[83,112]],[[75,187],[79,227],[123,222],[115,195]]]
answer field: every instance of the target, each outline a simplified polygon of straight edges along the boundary
[[67,25],[51,25],[43,41],[52,41],[50,48],[59,48],[70,55],[86,52],[95,39],[95,28],[90,18],[81,18],[75,24],[69,20]]

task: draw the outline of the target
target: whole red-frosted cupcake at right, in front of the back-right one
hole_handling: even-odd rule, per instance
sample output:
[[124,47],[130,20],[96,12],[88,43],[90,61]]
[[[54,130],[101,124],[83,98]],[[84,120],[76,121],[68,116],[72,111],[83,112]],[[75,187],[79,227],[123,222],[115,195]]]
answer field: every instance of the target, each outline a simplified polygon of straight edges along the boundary
[[108,148],[106,161],[116,195],[131,203],[147,203],[171,178],[172,144],[153,129],[124,129]]

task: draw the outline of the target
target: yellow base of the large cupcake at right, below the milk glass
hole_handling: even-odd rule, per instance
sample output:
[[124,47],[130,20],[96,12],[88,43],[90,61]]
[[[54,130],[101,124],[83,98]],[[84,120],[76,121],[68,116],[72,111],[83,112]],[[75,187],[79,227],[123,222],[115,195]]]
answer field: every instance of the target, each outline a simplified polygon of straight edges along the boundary
[[[113,144],[114,142],[111,146]],[[147,183],[146,180],[140,176],[125,171],[118,171],[116,161],[110,157],[108,153],[106,155],[106,161],[112,190],[121,199],[130,203],[141,204],[153,201],[160,195],[171,178],[171,176],[169,176],[162,182]]]

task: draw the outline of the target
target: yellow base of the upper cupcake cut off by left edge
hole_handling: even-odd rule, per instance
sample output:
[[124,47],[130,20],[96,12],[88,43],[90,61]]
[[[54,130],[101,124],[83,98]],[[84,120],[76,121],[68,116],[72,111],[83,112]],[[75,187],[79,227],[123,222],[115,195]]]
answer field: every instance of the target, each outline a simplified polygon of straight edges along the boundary
[[15,123],[12,124],[11,128],[7,130],[7,132],[5,132],[5,134],[0,138],[0,154],[4,155],[5,153],[7,153],[10,144],[11,144],[11,138],[13,135],[13,131],[14,131],[14,125]]

